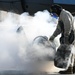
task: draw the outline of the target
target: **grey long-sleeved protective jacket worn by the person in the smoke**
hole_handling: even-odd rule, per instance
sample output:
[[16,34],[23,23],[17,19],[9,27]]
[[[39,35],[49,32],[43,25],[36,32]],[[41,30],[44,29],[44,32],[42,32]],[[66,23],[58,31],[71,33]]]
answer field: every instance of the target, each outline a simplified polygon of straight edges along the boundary
[[[62,27],[63,25],[64,27]],[[50,40],[54,40],[54,38],[61,33],[61,37],[63,38],[62,41],[64,41],[65,44],[69,44],[68,37],[70,35],[71,30],[74,28],[73,26],[74,26],[73,16],[71,15],[70,12],[66,11],[65,9],[62,9],[59,16],[57,28],[54,31],[53,35],[51,36]],[[64,30],[64,32],[62,30]]]

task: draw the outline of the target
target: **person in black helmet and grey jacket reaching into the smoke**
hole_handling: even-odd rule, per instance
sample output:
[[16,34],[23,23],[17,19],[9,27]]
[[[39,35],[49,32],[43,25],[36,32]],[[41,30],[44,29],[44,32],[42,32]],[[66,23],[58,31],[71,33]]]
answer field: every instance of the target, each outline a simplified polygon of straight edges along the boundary
[[[50,8],[52,14],[59,17],[57,27],[49,38],[49,41],[53,41],[61,33],[60,44],[72,45],[74,42],[74,18],[73,15],[63,9],[60,5],[52,5]],[[72,58],[74,59],[74,58]],[[75,59],[74,59],[75,60]],[[60,71],[59,73],[66,74],[72,70],[71,66],[67,70]],[[73,73],[75,73],[75,64],[73,65]]]

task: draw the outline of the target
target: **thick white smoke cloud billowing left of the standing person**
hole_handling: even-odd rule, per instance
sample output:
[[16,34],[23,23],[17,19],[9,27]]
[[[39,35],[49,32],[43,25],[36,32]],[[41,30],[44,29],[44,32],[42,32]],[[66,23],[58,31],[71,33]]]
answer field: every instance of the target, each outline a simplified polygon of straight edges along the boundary
[[[32,45],[32,42],[37,36],[49,38],[56,24],[57,20],[47,10],[34,16],[8,12],[0,22],[0,70],[55,72],[52,60],[55,50]],[[58,38],[55,39],[56,47],[59,46]]]

